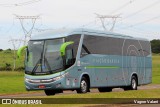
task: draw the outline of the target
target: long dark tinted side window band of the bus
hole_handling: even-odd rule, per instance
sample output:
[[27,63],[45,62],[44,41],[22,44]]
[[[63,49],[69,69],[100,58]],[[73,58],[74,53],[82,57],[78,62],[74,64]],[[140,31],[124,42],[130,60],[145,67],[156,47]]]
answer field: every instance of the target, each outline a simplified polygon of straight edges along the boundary
[[103,55],[147,56],[150,54],[149,49],[148,41],[85,35],[81,57],[88,52]]

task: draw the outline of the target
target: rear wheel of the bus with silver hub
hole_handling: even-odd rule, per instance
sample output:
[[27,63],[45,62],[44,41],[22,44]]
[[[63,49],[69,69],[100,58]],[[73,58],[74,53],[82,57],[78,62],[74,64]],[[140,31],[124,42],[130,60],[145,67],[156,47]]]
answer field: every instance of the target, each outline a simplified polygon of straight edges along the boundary
[[138,80],[137,80],[137,78],[135,76],[132,76],[130,86],[126,86],[123,89],[125,91],[137,90],[137,86],[138,86]]

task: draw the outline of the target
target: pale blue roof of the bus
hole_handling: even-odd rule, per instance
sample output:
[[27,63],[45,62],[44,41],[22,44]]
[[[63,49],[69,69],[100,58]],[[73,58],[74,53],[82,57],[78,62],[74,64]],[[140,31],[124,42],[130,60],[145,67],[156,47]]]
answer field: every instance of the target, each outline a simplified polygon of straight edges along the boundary
[[42,33],[38,33],[34,35],[33,37],[31,37],[31,40],[61,38],[61,37],[66,37],[66,36],[74,35],[74,34],[96,35],[96,36],[106,36],[106,37],[114,37],[114,38],[148,41],[145,38],[132,37],[132,36],[127,36],[124,34],[118,34],[118,33],[109,32],[109,31],[93,30],[93,29],[86,29],[86,28],[57,29],[57,30],[44,31]]

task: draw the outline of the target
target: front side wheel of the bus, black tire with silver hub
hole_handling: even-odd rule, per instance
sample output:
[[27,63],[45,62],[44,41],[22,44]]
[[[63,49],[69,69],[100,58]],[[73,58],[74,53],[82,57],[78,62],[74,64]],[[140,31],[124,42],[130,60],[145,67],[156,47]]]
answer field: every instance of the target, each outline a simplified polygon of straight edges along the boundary
[[80,88],[77,89],[77,93],[87,93],[89,90],[89,83],[85,77],[82,77],[80,82]]

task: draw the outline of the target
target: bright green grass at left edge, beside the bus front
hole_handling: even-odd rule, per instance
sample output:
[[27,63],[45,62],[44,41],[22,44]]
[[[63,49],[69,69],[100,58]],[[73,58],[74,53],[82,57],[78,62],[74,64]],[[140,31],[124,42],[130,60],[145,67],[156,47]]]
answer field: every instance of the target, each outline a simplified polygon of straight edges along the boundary
[[24,73],[1,71],[0,72],[0,95],[28,93],[24,85]]

